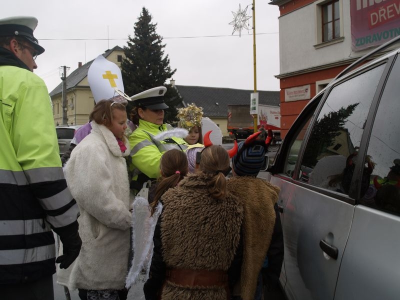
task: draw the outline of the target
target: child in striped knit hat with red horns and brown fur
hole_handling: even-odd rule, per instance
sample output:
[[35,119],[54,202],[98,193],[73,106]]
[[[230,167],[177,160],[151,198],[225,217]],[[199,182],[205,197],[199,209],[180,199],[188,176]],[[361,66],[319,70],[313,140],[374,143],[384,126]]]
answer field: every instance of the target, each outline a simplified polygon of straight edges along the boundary
[[[271,130],[268,130],[271,137]],[[268,288],[278,284],[283,261],[283,236],[276,201],[279,188],[256,178],[264,165],[271,138],[261,140],[258,131],[238,144],[232,157],[233,177],[228,190],[239,195],[244,207],[243,257],[238,281],[231,291],[232,300],[261,300],[262,275]]]

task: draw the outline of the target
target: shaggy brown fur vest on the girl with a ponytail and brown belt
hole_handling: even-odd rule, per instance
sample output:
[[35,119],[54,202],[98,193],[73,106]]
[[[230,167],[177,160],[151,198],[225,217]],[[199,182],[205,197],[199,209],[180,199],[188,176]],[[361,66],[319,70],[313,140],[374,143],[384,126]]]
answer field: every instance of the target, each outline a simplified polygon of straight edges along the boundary
[[[226,271],[240,239],[243,209],[237,197],[217,200],[204,175],[192,174],[168,189],[161,201],[162,254],[167,268]],[[223,287],[183,287],[165,281],[161,298],[225,300]]]

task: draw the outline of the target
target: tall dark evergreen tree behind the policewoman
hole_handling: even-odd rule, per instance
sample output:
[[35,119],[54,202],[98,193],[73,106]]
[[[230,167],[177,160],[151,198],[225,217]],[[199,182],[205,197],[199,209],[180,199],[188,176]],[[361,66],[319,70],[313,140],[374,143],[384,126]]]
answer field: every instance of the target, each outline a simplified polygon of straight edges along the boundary
[[[133,95],[146,89],[163,85],[167,88],[164,95],[166,122],[176,120],[176,105],[181,100],[174,87],[166,84],[176,69],[169,66],[168,54],[164,55],[165,44],[162,37],[155,32],[156,23],[151,22],[151,14],[142,8],[137,22],[134,23],[134,36],[128,36],[127,46],[123,47],[125,58],[121,62],[121,72],[125,93]],[[129,110],[132,105],[128,105]],[[128,110],[128,111],[129,111]]]

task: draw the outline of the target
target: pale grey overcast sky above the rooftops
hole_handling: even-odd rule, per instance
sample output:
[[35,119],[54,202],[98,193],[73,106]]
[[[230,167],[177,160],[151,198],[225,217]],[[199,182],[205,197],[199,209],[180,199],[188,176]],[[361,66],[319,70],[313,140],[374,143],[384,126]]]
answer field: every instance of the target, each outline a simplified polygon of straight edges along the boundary
[[[175,84],[253,89],[252,30],[232,36],[231,11],[239,4],[251,15],[251,0],[11,0],[0,18],[32,15],[39,23],[34,35],[45,48],[36,58],[35,73],[49,91],[58,83],[59,66],[69,71],[115,45],[126,45],[144,6],[157,23]],[[257,89],[278,90],[279,9],[255,0]],[[249,28],[252,27],[250,19]],[[258,34],[259,33],[259,34]],[[237,34],[235,32],[234,34]],[[210,37],[206,37],[210,36]],[[107,40],[108,38],[108,40]],[[78,39],[78,40],[73,40]],[[69,73],[68,73],[69,74]]]

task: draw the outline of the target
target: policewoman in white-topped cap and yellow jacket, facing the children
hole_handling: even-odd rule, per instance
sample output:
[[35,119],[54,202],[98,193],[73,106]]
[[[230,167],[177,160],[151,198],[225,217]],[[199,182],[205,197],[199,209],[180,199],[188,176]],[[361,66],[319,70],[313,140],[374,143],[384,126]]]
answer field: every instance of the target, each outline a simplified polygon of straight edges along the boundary
[[185,151],[187,148],[184,139],[176,135],[165,136],[161,140],[156,138],[160,133],[172,130],[171,125],[164,123],[164,109],[168,108],[163,97],[165,91],[166,87],[158,86],[130,97],[135,105],[131,111],[131,119],[138,125],[129,136],[129,171],[132,176],[130,187],[134,190],[140,190],[143,182],[148,179],[159,177],[162,153],[169,149]]

